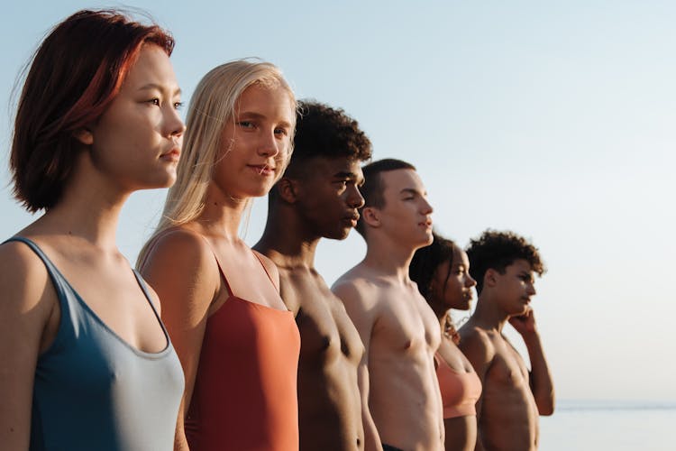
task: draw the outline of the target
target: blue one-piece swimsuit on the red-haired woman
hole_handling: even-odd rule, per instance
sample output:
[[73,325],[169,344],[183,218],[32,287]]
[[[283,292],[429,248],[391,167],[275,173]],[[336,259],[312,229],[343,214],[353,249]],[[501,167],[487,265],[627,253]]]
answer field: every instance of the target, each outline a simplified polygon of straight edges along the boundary
[[38,357],[31,451],[164,451],[173,448],[183,372],[145,283],[136,280],[160,322],[167,347],[128,345],[96,316],[32,241],[59,297],[59,330]]

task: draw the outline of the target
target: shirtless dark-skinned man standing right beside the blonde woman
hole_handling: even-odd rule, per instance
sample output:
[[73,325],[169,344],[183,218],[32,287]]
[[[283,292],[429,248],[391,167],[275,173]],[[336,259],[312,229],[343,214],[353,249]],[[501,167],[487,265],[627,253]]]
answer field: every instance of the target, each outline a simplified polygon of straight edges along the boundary
[[319,240],[343,240],[357,223],[361,161],[370,159],[370,141],[342,110],[315,102],[300,104],[296,129],[295,150],[269,193],[268,222],[254,249],[279,267],[281,297],[300,331],[300,449],[379,450],[357,382],[364,346],[340,299],[315,271]]

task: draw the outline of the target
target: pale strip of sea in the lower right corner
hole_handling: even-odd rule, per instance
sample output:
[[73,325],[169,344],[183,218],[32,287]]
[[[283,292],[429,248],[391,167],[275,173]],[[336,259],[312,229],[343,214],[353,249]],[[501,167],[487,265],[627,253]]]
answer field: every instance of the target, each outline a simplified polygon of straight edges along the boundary
[[540,451],[676,451],[676,402],[557,400]]

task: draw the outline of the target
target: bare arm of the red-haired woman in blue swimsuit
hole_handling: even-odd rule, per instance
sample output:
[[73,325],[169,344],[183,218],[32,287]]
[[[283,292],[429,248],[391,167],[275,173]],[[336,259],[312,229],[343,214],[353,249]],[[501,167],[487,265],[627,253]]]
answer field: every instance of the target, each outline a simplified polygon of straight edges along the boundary
[[59,304],[46,269],[24,244],[0,247],[0,293],[0,443],[27,450],[35,366],[56,335],[48,323],[54,310],[59,318]]

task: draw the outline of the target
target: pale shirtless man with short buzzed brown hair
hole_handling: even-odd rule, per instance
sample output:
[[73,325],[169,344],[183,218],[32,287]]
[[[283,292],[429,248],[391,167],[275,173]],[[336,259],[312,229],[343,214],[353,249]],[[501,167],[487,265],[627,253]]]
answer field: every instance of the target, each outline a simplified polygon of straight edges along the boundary
[[365,204],[357,230],[366,257],[333,285],[366,347],[361,395],[384,450],[440,451],[439,322],[408,277],[413,253],[432,243],[432,207],[407,162],[375,161],[362,170]]

